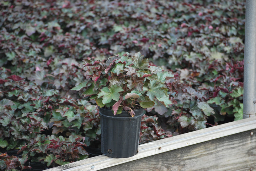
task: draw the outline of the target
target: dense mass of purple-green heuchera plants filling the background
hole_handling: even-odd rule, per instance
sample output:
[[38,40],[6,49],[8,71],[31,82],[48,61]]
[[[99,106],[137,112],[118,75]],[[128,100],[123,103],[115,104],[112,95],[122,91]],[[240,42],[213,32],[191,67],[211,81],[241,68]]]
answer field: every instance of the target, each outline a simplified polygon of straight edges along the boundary
[[[147,109],[140,143],[242,118],[243,0],[2,0],[0,14],[1,149],[38,135],[100,142],[96,104],[70,89],[91,72],[82,60],[126,52],[174,75],[164,81],[171,105]],[[30,160],[0,156],[1,169]]]

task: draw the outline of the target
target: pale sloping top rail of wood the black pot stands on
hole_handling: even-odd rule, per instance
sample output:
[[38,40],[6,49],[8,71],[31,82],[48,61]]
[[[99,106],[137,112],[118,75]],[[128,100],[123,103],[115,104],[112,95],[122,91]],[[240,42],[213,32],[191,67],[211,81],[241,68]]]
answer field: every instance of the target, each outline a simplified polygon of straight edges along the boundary
[[[156,156],[157,154],[166,154],[167,151],[187,147],[193,144],[199,144],[214,140],[221,137],[230,136],[256,129],[256,117],[246,118],[239,121],[225,123],[210,128],[181,134],[175,137],[165,138],[150,143],[139,145],[137,155],[130,158],[109,158],[104,155],[73,162],[63,166],[54,167],[47,171],[79,171],[79,170],[101,170],[108,167],[116,166],[126,162]],[[255,133],[256,134],[256,133]],[[153,156],[153,157],[154,157]]]

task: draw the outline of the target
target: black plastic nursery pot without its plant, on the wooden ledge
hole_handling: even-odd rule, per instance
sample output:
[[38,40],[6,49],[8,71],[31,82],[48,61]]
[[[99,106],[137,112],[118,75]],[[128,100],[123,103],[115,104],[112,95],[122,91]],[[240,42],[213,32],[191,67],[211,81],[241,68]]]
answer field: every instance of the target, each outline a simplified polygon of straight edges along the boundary
[[112,158],[128,158],[138,153],[140,123],[144,109],[127,111],[114,116],[111,110],[100,108],[101,152]]

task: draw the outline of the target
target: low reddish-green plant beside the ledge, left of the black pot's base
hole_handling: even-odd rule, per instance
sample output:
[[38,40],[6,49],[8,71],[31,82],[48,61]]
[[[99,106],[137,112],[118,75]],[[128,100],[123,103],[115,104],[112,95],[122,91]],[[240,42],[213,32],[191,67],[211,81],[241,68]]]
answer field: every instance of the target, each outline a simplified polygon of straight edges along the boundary
[[86,145],[81,140],[81,136],[64,138],[37,135],[30,143],[21,147],[18,153],[22,152],[23,157],[28,156],[28,160],[44,161],[48,167],[55,167],[88,158],[89,154],[84,149]]

